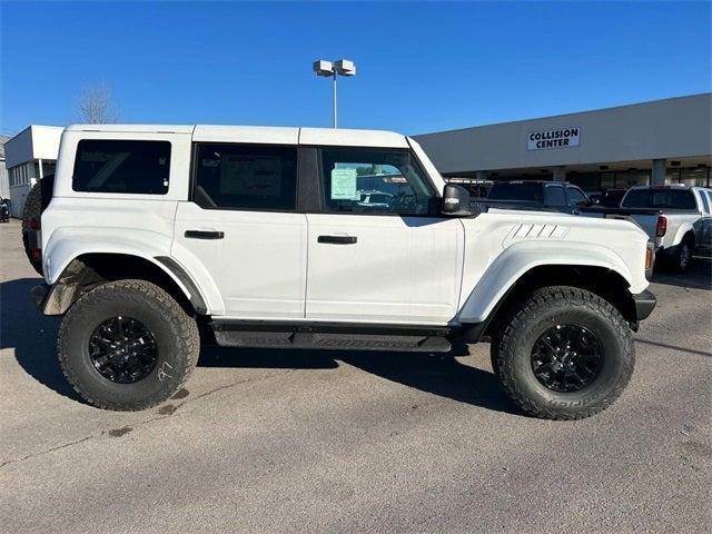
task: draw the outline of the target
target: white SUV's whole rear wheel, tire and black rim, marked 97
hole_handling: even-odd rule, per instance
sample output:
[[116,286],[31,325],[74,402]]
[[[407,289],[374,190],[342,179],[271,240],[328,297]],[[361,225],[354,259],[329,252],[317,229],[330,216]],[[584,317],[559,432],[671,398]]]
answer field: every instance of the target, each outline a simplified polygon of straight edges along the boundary
[[103,284],[65,316],[59,362],[73,388],[100,408],[139,411],[176,393],[198,360],[196,320],[144,280]]

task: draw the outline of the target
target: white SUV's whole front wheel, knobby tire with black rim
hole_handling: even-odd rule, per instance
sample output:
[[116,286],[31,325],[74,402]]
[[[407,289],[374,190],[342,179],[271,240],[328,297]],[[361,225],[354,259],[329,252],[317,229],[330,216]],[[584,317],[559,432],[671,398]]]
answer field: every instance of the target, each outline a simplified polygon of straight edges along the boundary
[[627,323],[606,300],[575,287],[534,291],[492,344],[502,385],[524,412],[581,419],[609,407],[633,373]]

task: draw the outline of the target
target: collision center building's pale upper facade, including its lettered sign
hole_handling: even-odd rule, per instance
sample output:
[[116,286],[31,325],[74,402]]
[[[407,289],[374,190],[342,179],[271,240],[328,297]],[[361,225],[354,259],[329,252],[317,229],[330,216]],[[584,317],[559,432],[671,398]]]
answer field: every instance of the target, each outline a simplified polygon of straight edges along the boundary
[[712,185],[712,93],[414,137],[443,176],[465,182]]

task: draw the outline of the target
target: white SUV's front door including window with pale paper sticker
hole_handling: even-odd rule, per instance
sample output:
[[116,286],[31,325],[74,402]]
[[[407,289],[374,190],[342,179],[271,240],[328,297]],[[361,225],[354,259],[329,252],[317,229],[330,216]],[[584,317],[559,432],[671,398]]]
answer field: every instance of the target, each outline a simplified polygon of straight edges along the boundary
[[[308,214],[306,318],[446,324],[464,229],[408,149],[319,148],[324,212]],[[367,191],[367,194],[365,194]]]

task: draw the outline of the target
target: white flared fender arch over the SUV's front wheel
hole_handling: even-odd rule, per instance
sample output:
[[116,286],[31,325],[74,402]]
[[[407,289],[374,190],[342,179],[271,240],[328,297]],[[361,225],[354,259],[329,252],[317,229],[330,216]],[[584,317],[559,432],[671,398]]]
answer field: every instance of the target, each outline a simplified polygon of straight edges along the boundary
[[484,322],[525,273],[544,265],[604,267],[621,275],[629,286],[635,284],[625,261],[613,250],[601,245],[577,241],[518,241],[507,247],[487,267],[461,308],[457,322]]

